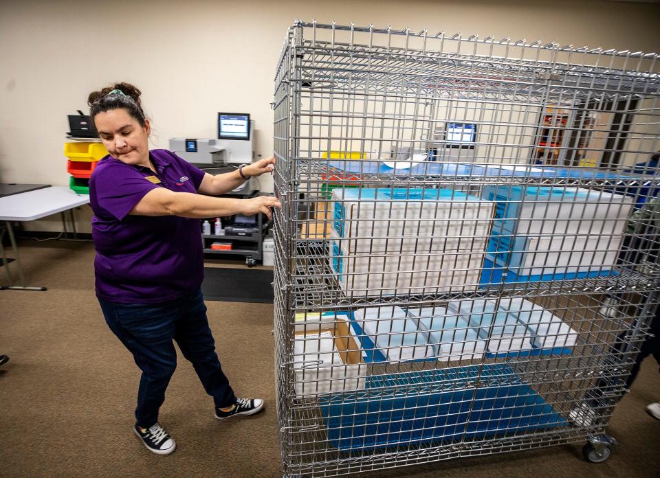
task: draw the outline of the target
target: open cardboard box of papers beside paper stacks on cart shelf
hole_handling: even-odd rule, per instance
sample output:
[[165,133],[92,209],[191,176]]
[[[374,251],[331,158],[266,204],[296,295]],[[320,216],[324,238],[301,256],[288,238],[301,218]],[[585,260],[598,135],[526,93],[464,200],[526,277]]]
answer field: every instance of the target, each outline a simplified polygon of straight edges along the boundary
[[296,323],[296,330],[296,395],[364,389],[367,366],[347,321],[338,318],[333,324],[318,323],[318,328],[312,323]]

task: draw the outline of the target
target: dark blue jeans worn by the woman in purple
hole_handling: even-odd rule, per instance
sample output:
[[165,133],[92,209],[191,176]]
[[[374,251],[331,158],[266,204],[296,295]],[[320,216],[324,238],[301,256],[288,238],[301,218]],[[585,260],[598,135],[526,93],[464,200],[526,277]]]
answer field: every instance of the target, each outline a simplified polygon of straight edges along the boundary
[[165,389],[177,368],[177,341],[192,363],[216,407],[229,407],[236,397],[223,374],[206,318],[201,290],[162,304],[118,304],[98,299],[110,330],[133,354],[142,370],[135,418],[143,428],[158,421]]

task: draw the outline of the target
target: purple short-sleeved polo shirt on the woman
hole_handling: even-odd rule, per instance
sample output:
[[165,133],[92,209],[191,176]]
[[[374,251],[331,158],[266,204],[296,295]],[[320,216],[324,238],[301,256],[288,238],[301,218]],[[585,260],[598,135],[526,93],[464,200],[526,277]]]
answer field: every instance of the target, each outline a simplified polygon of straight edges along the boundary
[[[195,292],[203,280],[199,219],[129,212],[156,187],[196,193],[204,172],[168,150],[149,155],[155,174],[106,156],[89,179],[96,295],[107,301],[156,304]],[[161,182],[146,179],[153,176]]]

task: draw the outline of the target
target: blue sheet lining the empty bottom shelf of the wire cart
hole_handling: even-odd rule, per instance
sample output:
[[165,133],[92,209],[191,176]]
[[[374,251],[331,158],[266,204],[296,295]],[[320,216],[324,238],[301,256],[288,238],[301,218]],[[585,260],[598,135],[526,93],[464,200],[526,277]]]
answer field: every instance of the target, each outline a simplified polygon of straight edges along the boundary
[[[512,385],[462,389],[419,396],[380,396],[369,389],[416,385],[443,380],[487,380],[507,376]],[[406,383],[406,381],[408,383]],[[516,383],[517,382],[517,383]],[[499,434],[566,426],[536,391],[505,364],[444,369],[406,375],[372,376],[364,398],[344,403],[344,396],[320,400],[328,440],[340,450],[387,448],[400,444],[450,444],[463,437],[481,440]]]

